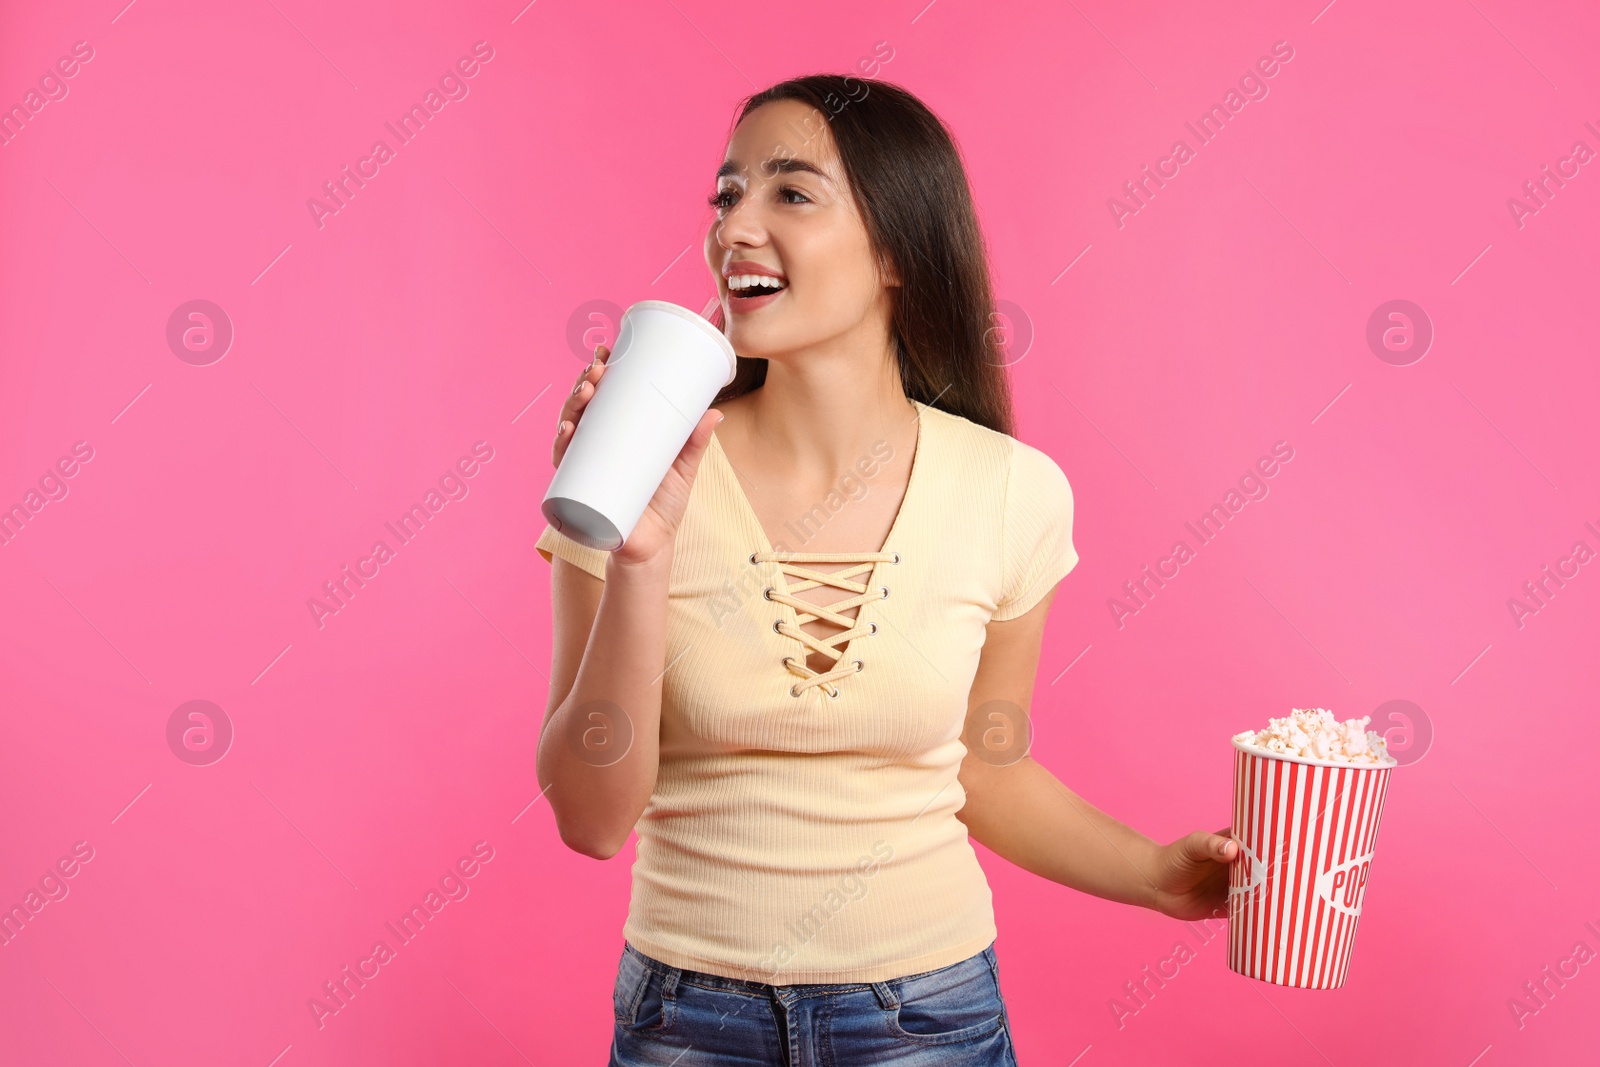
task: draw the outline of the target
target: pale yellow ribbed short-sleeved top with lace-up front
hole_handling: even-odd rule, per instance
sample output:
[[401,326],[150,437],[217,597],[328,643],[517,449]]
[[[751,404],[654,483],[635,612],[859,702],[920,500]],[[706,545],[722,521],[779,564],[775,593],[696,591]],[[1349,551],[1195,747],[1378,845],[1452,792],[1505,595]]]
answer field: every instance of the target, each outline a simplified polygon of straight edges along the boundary
[[[712,435],[669,574],[659,771],[622,928],[640,952],[782,985],[902,977],[994,941],[955,817],[962,733],[984,627],[1077,565],[1072,490],[1013,437],[920,402],[917,421],[877,552],[770,544]],[[874,467],[862,458],[846,490]],[[797,507],[784,537],[842,507],[843,493]],[[550,526],[536,547],[605,579],[600,549]],[[808,603],[824,584],[851,595]],[[838,629],[818,638],[811,619]]]

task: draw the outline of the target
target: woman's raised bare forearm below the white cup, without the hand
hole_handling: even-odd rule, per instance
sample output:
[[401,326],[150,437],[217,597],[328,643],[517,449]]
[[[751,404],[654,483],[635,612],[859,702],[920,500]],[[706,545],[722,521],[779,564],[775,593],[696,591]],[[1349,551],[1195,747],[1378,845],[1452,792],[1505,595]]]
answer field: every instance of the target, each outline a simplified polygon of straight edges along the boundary
[[539,734],[539,785],[562,840],[597,859],[627,843],[656,785],[670,569],[670,552],[648,565],[606,561],[573,688]]

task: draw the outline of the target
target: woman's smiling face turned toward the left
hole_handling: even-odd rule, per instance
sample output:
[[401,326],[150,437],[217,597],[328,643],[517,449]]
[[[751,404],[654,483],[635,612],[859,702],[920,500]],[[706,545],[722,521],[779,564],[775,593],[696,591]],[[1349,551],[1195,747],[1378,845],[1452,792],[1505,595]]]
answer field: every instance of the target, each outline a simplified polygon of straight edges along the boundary
[[[786,99],[746,115],[728,142],[712,205],[706,266],[739,355],[773,358],[853,333],[869,342],[888,336],[885,282],[894,277],[877,269],[819,110]],[[782,286],[742,288],[763,272]]]

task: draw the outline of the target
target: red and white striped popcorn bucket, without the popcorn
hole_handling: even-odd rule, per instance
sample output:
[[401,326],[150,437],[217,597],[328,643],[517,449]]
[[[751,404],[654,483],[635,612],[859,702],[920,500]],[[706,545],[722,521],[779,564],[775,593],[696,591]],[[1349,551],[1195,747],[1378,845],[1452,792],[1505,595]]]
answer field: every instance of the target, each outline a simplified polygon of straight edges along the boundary
[[1392,766],[1234,742],[1230,969],[1278,985],[1344,985]]

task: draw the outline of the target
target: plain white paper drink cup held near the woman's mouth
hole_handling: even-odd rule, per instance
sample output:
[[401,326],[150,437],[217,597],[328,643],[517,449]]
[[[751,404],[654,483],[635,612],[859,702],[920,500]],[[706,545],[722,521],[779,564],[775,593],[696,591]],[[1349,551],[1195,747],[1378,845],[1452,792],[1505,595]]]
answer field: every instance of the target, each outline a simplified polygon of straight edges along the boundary
[[638,301],[622,312],[539,506],[546,522],[590,549],[621,549],[734,368],[728,338],[690,309]]

